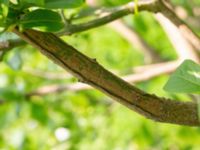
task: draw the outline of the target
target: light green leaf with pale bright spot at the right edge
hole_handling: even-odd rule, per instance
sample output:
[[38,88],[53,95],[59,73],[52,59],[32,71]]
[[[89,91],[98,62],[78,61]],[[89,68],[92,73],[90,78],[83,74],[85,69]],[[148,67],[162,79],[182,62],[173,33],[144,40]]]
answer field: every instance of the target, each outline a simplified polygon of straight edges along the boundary
[[164,90],[175,93],[200,93],[200,65],[185,60],[171,75]]

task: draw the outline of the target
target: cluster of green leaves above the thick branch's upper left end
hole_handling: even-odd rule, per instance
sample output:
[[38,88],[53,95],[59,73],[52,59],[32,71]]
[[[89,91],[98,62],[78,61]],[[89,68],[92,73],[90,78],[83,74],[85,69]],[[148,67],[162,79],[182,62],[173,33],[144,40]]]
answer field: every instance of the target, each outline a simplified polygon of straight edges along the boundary
[[0,27],[19,26],[20,29],[39,28],[56,32],[64,27],[58,9],[75,8],[84,0],[18,0],[0,1]]

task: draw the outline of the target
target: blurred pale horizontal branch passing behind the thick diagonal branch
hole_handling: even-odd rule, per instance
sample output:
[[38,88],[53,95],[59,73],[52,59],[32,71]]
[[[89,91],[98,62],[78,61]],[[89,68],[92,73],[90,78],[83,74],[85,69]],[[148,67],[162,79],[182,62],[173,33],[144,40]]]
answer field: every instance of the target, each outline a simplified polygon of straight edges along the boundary
[[[130,83],[138,83],[138,82],[146,81],[154,77],[157,77],[159,75],[173,72],[177,68],[177,66],[180,65],[180,63],[181,61],[171,61],[171,62],[166,62],[166,63],[142,66],[139,68],[136,67],[134,70],[138,71],[138,73],[127,75],[123,77],[123,79]],[[57,76],[59,76],[59,74],[57,74]],[[40,87],[35,91],[27,93],[26,97],[43,96],[47,94],[55,94],[55,93],[60,93],[60,92],[65,92],[65,91],[75,92],[75,91],[88,90],[88,89],[92,89],[92,87],[83,83],[74,83],[74,84],[72,83],[72,84],[67,84],[67,85],[61,85],[61,84],[47,85],[47,86]]]

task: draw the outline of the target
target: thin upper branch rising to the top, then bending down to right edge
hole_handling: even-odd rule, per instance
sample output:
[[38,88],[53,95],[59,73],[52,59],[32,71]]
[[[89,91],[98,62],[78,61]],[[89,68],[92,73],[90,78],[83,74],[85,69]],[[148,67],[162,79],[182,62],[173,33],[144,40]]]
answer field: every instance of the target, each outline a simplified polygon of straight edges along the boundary
[[[141,0],[138,2],[137,7],[139,11],[149,11],[153,13],[160,12],[164,14],[180,29],[181,33],[186,37],[186,39],[197,50],[200,50],[200,37],[183,20],[181,20],[173,12],[173,10],[170,9],[169,3],[165,3],[163,0]],[[123,16],[133,14],[134,8],[134,2],[129,2],[128,4],[120,7],[111,8],[111,11],[109,11],[110,13],[106,16],[91,20],[87,23],[71,24],[67,26],[67,28],[65,28],[62,32],[58,33],[58,35],[71,35],[105,25]]]

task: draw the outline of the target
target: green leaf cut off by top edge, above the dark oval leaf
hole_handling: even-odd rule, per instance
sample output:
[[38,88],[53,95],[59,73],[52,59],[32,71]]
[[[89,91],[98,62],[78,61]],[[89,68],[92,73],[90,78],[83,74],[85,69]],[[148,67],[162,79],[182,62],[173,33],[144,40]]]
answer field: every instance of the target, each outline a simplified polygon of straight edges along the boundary
[[75,8],[82,5],[84,0],[45,0],[45,8]]

